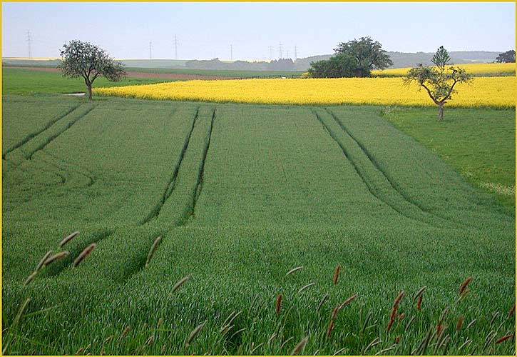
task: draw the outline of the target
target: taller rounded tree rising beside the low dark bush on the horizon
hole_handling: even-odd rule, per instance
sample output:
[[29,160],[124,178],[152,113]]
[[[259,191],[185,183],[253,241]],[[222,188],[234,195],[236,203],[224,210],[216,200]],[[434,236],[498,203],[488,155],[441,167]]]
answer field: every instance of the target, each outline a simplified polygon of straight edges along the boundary
[[386,69],[393,64],[387,51],[382,49],[382,44],[369,36],[342,42],[337,45],[334,52],[354,57],[357,67],[363,71],[364,76],[368,76],[372,69]]

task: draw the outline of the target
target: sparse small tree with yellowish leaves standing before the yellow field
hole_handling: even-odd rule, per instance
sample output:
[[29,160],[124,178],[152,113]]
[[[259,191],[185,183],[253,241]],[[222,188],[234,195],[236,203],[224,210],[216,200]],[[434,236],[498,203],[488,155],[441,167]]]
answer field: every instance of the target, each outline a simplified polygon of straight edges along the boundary
[[409,70],[404,77],[404,84],[419,84],[419,89],[424,88],[429,97],[438,106],[438,119],[444,120],[444,105],[457,93],[454,87],[459,83],[470,84],[473,79],[465,69],[449,65],[451,57],[444,46],[440,46],[431,61],[435,67],[418,64]]

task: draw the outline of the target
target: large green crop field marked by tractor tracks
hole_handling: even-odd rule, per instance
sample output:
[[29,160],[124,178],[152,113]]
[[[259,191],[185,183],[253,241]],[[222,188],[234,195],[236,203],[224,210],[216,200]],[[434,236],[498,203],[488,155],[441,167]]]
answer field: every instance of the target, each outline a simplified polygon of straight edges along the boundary
[[[514,315],[506,317],[515,301],[514,215],[395,129],[379,106],[11,94],[3,111],[6,353],[288,354],[308,336],[304,354],[360,354],[379,337],[366,351],[375,354],[401,336],[388,353],[409,354],[436,331],[446,307],[447,353],[515,350],[514,339],[494,343],[515,331]],[[404,113],[436,116],[403,109],[397,117]],[[513,129],[513,110],[484,113]],[[488,141],[486,132],[471,135]],[[58,249],[75,230],[80,235]],[[158,235],[163,241],[144,268]],[[63,249],[68,257],[23,286],[46,251]],[[296,266],[303,268],[285,275]],[[467,276],[471,292],[458,302]],[[298,293],[308,283],[315,285]],[[387,332],[402,290],[405,317]],[[334,307],[355,293],[326,338]],[[465,322],[456,331],[459,316]],[[483,349],[491,331],[496,337]],[[425,352],[444,346],[433,336]]]

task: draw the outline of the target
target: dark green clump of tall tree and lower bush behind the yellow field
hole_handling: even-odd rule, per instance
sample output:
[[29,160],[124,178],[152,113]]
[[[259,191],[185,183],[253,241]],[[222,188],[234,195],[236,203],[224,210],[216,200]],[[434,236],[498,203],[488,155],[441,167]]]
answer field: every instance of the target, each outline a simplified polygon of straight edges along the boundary
[[342,42],[327,60],[311,63],[309,76],[313,78],[367,77],[372,69],[386,69],[393,65],[379,41],[370,37]]

